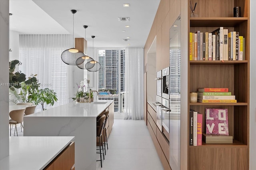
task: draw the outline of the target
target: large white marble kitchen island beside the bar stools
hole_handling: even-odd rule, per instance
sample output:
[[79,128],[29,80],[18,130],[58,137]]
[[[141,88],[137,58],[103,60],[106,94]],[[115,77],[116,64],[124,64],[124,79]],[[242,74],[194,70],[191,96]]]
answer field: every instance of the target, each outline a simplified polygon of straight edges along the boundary
[[113,100],[71,102],[24,116],[24,136],[74,136],[76,170],[96,170],[96,117],[106,110],[114,123]]

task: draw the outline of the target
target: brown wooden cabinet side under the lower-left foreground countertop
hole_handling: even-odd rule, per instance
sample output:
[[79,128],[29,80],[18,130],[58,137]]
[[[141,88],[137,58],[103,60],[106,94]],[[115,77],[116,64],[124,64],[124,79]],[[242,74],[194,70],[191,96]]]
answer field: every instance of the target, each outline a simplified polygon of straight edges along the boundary
[[75,164],[75,143],[70,143],[44,170],[71,170]]

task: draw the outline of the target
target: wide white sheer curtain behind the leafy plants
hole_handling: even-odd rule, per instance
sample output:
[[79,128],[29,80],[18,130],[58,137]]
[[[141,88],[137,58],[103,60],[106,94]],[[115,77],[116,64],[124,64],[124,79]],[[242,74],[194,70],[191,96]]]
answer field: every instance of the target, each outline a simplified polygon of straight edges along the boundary
[[37,74],[40,88],[56,92],[54,106],[68,103],[68,65],[60,56],[72,43],[71,35],[20,35],[20,70],[26,77]]

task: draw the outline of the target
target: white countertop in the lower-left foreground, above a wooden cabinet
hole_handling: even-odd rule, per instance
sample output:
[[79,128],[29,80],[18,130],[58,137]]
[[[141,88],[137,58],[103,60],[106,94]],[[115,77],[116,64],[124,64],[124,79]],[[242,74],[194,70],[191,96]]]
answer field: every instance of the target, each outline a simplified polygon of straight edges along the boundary
[[74,137],[9,137],[9,156],[0,160],[1,170],[42,170]]

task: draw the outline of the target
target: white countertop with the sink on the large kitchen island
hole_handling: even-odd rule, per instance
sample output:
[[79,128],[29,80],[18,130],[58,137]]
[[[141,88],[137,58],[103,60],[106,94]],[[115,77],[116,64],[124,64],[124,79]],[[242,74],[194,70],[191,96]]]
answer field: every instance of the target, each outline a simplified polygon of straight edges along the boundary
[[[105,102],[105,104],[97,104]],[[70,102],[61,106],[40,111],[26,117],[97,117],[104,111],[113,100],[98,100],[92,103]],[[24,117],[25,118],[25,117]]]

